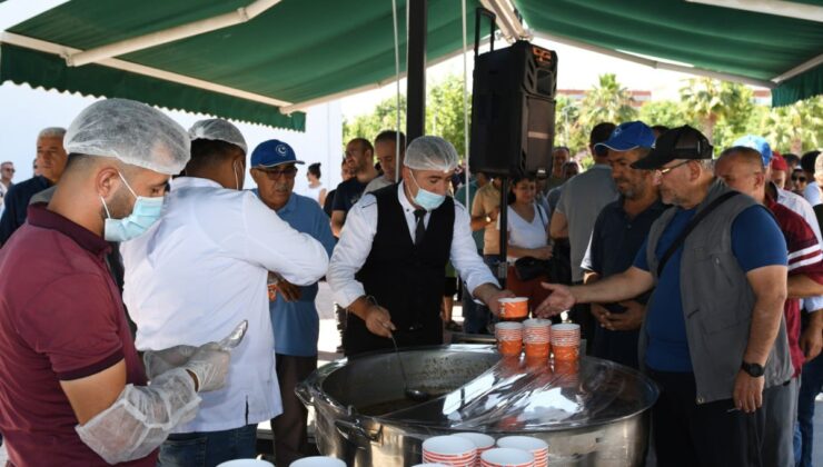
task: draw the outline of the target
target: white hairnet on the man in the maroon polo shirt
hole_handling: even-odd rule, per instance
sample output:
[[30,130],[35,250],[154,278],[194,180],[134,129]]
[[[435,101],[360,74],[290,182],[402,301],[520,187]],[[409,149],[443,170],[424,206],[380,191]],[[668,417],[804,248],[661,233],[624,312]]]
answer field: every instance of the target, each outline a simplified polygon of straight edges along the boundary
[[177,175],[191,158],[186,129],[161,111],[128,99],[83,109],[63,138],[66,152],[113,157],[130,166]]

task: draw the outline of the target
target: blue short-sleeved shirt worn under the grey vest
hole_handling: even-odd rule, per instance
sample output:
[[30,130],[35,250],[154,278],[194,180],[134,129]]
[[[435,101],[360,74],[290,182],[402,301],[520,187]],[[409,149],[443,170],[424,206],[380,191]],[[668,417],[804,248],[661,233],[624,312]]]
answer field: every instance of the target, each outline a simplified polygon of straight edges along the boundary
[[[677,209],[663,231],[655,255],[663,254],[688,226],[696,208]],[[757,232],[757,235],[752,235]],[[637,251],[634,266],[648,271],[646,258],[647,241]],[[734,219],[732,223],[732,251],[745,272],[772,266],[786,265],[785,239],[772,215],[763,206],[752,206]],[[681,295],[681,260],[683,246],[668,259],[657,278],[655,300],[646,310],[646,365],[658,371],[691,372],[692,358],[688,354],[686,321],[683,317]],[[700,271],[694,271],[700,274]]]

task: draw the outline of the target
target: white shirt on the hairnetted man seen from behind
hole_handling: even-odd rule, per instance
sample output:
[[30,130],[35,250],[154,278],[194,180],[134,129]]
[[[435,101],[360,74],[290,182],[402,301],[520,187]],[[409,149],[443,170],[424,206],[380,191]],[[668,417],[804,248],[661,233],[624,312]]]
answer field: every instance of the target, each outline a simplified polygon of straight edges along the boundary
[[226,386],[200,394],[197,417],[173,433],[232,429],[279,415],[266,278],[275,271],[296,285],[316,282],[328,265],[323,246],[249,191],[180,177],[171,180],[162,218],[120,251],[138,349],[199,346],[249,321]]

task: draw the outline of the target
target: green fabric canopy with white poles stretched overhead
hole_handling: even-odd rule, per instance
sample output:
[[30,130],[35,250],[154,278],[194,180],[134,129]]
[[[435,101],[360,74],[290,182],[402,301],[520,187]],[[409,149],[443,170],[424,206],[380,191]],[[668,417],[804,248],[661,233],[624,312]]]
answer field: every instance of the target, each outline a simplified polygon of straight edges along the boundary
[[[432,64],[462,52],[462,3],[427,3]],[[774,105],[823,93],[823,0],[801,3],[810,13],[800,16],[810,19],[682,0],[467,3],[472,39],[473,12],[483,4],[498,14],[507,39],[533,32],[653,67],[765,86]],[[397,9],[405,71],[406,1],[397,0]],[[10,28],[0,42],[0,82],[298,130],[306,107],[396,79],[390,0],[71,0]],[[561,72],[562,63],[561,57]]]

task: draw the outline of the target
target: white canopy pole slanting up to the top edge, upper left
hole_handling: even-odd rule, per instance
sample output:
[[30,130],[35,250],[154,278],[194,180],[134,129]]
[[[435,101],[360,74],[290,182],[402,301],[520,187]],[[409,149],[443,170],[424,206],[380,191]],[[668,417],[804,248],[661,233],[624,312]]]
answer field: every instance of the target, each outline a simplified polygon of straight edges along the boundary
[[69,67],[80,67],[137,50],[143,50],[192,36],[228,28],[230,26],[240,24],[252,20],[255,17],[276,6],[280,1],[281,0],[256,0],[247,7],[238,8],[235,11],[219,14],[217,17],[206,18],[162,31],[150,32],[148,34],[121,40],[119,42],[109,43],[95,49],[71,53],[66,58],[66,63]]

